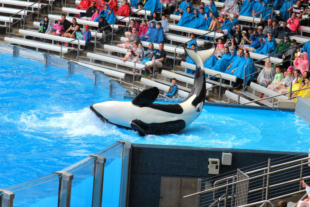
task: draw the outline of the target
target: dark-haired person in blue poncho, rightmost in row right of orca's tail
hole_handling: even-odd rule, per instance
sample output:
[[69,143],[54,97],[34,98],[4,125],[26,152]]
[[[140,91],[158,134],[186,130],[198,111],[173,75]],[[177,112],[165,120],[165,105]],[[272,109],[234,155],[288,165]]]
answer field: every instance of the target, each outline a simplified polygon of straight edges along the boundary
[[[250,75],[256,71],[254,64],[251,64],[251,63],[253,63],[253,59],[250,57],[250,53],[246,52],[244,54],[244,59],[242,61],[240,61],[238,67],[232,71],[232,75],[237,76],[237,81],[235,83],[234,88],[239,88],[239,87],[243,86],[244,76]],[[248,65],[248,64],[251,64],[251,65]],[[246,66],[246,65],[248,65],[248,66]],[[246,73],[244,74],[244,67],[245,66],[246,66]],[[256,74],[252,74],[251,76],[246,77],[245,78],[245,84],[248,83],[250,78],[254,78],[255,75]],[[246,87],[244,89],[246,89]]]

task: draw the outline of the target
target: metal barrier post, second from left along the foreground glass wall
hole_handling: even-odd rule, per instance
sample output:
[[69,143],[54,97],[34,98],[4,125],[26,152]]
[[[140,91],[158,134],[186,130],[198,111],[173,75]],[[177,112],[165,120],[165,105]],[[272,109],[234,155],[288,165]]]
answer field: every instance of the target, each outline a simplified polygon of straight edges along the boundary
[[61,177],[59,180],[58,207],[70,207],[73,174],[63,171],[56,171],[55,173]]

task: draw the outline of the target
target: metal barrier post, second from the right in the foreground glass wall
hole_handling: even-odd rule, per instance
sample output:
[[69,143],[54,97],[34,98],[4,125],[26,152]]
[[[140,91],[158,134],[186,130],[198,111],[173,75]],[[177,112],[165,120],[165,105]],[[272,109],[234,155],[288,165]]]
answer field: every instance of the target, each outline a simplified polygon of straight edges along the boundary
[[102,189],[103,189],[103,175],[104,175],[104,163],[105,157],[100,155],[89,155],[96,157],[96,163],[94,168],[94,185],[93,185],[93,200],[92,207],[101,207],[102,205]]

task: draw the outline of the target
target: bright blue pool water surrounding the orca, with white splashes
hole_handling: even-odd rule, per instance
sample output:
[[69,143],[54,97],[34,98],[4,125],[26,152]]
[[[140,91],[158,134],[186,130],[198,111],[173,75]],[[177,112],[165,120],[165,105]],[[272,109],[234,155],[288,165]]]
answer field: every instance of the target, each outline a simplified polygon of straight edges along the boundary
[[117,140],[308,151],[309,125],[281,111],[204,106],[182,132],[139,137],[102,122],[89,109],[111,100],[108,85],[23,57],[0,53],[0,58],[0,188],[64,169]]

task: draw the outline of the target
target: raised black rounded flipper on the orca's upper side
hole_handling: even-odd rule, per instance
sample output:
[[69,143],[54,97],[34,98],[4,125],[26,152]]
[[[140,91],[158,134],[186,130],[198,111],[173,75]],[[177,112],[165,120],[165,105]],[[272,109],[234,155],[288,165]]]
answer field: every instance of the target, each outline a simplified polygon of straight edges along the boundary
[[158,94],[159,94],[158,88],[156,87],[147,88],[139,92],[137,96],[134,99],[132,99],[131,102],[135,106],[149,105],[156,100]]

